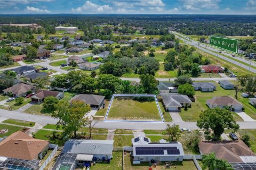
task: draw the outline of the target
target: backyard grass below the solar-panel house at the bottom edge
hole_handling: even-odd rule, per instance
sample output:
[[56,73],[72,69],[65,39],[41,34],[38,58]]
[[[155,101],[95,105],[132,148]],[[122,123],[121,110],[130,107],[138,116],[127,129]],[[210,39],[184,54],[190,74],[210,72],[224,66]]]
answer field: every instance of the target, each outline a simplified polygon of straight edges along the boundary
[[[126,153],[124,155],[124,170],[148,170],[149,162],[141,162],[140,164],[132,164],[132,158],[130,157],[130,153]],[[172,167],[170,170],[196,170],[196,166],[193,161],[183,161],[183,162],[172,162]],[[175,165],[175,166],[174,166]],[[153,169],[165,169],[164,162],[158,162],[156,168]]]

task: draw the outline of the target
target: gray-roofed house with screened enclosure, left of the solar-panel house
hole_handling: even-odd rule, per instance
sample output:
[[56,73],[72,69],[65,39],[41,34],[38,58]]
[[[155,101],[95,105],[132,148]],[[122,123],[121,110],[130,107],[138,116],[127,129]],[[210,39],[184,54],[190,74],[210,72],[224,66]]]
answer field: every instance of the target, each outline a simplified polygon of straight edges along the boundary
[[77,165],[91,166],[92,162],[110,162],[114,140],[75,140],[65,142],[52,170],[75,169]]

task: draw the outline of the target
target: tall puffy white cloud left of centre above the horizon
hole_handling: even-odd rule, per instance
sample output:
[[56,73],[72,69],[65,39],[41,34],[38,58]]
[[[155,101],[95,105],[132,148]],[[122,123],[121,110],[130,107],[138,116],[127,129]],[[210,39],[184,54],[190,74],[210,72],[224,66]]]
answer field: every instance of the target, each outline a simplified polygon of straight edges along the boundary
[[112,7],[109,5],[98,5],[94,4],[91,1],[86,1],[83,6],[72,8],[73,12],[86,12],[86,13],[95,13],[95,12],[102,12],[107,13],[112,10]]

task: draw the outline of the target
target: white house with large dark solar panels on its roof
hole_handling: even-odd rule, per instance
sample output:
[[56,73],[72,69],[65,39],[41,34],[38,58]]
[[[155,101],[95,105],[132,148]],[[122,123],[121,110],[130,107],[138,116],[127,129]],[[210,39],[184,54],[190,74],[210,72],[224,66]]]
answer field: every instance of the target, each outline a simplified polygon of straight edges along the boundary
[[132,139],[133,164],[141,162],[158,161],[183,161],[184,151],[180,142],[166,142],[164,139],[159,142],[151,142],[144,136]]

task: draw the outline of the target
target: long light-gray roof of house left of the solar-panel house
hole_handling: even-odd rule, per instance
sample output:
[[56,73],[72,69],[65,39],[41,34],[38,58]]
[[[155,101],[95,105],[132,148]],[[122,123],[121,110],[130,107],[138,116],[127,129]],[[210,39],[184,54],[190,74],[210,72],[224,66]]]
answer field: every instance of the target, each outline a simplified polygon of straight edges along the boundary
[[65,143],[62,153],[111,155],[114,140],[74,140]]

